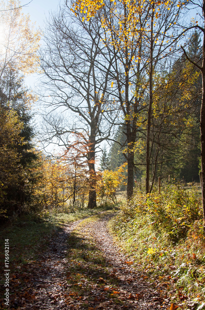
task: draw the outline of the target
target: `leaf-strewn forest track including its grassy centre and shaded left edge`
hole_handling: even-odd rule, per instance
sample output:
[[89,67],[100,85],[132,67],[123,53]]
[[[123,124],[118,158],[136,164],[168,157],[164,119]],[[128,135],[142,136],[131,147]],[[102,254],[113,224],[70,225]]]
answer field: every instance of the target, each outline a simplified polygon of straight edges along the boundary
[[44,234],[47,246],[38,249],[37,259],[13,264],[10,309],[178,308],[163,296],[160,281],[151,281],[116,244],[107,226],[116,212],[101,211]]

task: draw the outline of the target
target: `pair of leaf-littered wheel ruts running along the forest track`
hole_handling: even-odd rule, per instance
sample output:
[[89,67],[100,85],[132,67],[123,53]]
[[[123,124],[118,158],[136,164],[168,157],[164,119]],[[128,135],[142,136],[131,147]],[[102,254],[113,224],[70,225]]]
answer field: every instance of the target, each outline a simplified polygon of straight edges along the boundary
[[[85,281],[85,283],[80,281],[68,284],[68,268],[72,270],[80,263],[72,259],[71,246],[67,240],[72,237],[73,230],[82,220],[64,225],[64,228],[52,237],[48,249],[42,253],[38,264],[34,263],[34,280],[31,287],[36,294],[36,299],[26,307],[23,304],[22,308],[31,310],[167,309],[168,302],[161,298],[159,291],[149,283],[149,279],[143,279],[146,277],[141,271],[129,265],[126,255],[120,252],[120,248],[113,241],[107,228],[107,222],[111,216],[101,215],[98,221],[88,221],[84,226],[81,224],[82,237],[78,238],[82,243],[85,241],[89,243],[90,237],[92,238],[96,249],[101,251],[105,259],[107,274],[110,276],[105,276],[104,280],[101,277],[102,269],[99,272],[102,265],[99,264],[99,267],[96,267],[87,259],[86,269],[92,269],[92,272],[95,269],[94,274],[98,278],[95,280],[96,284],[91,285],[88,284],[90,282]],[[78,243],[76,241],[74,243],[78,249]],[[111,279],[116,279],[116,282],[110,281]],[[77,291],[77,286],[81,290],[80,294],[74,292],[74,290]],[[74,295],[70,294],[71,292],[74,292]]]

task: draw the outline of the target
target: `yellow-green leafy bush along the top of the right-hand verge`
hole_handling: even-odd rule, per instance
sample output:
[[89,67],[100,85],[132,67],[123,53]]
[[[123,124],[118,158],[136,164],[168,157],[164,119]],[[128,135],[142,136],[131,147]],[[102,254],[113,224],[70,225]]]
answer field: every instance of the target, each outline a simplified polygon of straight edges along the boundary
[[118,225],[122,228],[129,222],[132,229],[152,226],[176,243],[185,238],[190,226],[201,218],[201,199],[195,189],[188,191],[172,184],[166,185],[160,195],[157,192],[145,195],[136,190],[132,200],[122,206]]

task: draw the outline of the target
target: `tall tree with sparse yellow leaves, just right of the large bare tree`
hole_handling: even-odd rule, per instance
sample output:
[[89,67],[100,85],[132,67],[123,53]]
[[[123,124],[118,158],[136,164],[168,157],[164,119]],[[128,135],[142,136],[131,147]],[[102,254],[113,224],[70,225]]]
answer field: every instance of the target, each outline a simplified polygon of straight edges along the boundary
[[[132,197],[134,184],[134,145],[139,132],[139,114],[144,110],[144,66],[141,66],[142,33],[137,6],[127,2],[105,2],[102,8],[102,27],[107,49],[115,53],[113,93],[122,112],[121,126],[126,136],[127,151],[123,152],[128,163],[127,197]],[[146,14],[141,23],[145,26]]]

